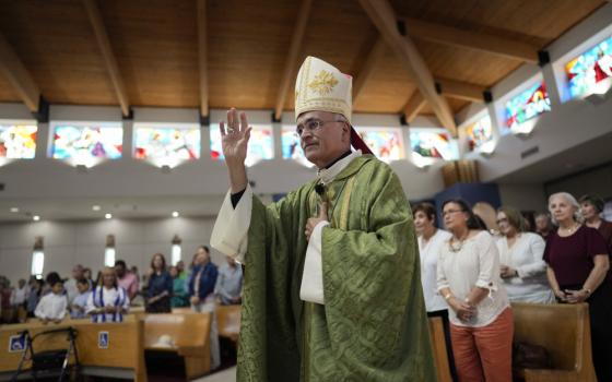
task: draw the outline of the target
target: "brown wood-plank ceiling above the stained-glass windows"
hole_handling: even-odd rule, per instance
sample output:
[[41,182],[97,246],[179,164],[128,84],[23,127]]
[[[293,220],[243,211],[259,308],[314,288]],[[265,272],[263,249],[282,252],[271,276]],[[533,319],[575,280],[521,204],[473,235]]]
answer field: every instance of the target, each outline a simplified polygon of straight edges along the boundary
[[[306,1],[309,12],[299,14]],[[199,2],[205,7],[204,41],[198,35]],[[109,43],[117,76],[105,61],[87,3],[102,20],[98,32]],[[451,112],[457,112],[469,100],[448,94],[450,85],[445,81],[459,82],[461,92],[464,85],[472,85],[469,94],[478,96],[525,59],[444,40],[452,39],[452,33],[439,40],[427,27],[436,34],[452,27],[456,35],[476,33],[479,38],[527,45],[536,57],[539,49],[605,1],[0,0],[0,37],[50,104],[119,105],[114,82],[119,79],[127,106],[193,108],[202,107],[203,99],[204,114],[208,108],[231,106],[273,110],[279,103],[292,110],[293,79],[304,57],[310,55],[352,74],[355,81],[360,75],[365,79],[355,111],[401,114],[412,99],[419,106],[412,110],[414,116],[431,115],[436,108],[420,98],[423,85],[397,55],[398,47],[390,46],[381,37],[380,25],[373,22],[367,7],[378,3],[386,3],[395,17],[405,20],[405,39],[414,43],[427,75],[443,83],[443,96]],[[295,38],[301,17],[307,19],[306,28],[303,38]],[[295,60],[289,53],[292,41],[298,44]],[[200,43],[204,43],[203,65]],[[379,49],[377,44],[381,44]],[[291,91],[283,99],[279,94],[287,76]],[[9,80],[0,74],[0,102],[22,102]],[[208,85],[200,93],[202,80]]]

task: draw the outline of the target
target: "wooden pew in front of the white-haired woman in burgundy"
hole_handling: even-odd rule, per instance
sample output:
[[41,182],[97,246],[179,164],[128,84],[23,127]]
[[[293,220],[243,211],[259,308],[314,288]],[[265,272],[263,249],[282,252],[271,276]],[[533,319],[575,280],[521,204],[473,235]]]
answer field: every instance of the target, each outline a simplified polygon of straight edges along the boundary
[[588,305],[513,303],[513,313],[514,342],[544,347],[553,366],[545,370],[522,369],[518,377],[526,382],[597,381]]

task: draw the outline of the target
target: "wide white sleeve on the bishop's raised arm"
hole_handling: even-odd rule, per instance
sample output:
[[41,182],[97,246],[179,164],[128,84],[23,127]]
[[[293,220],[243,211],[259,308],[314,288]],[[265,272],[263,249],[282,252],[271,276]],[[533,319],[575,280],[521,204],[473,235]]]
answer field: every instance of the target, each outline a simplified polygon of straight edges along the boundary
[[250,186],[247,184],[236,208],[232,205],[232,194],[227,191],[212,229],[211,247],[234,258],[238,263],[245,262],[251,206],[252,190]]

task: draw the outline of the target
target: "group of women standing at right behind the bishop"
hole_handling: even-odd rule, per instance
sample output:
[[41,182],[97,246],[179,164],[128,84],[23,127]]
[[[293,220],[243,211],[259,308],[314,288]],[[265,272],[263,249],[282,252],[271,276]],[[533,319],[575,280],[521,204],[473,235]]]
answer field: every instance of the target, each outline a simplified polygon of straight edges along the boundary
[[436,210],[413,207],[421,275],[428,315],[443,317],[460,381],[510,381],[510,302],[589,303],[593,365],[600,381],[612,381],[612,223],[603,201],[566,192],[549,199],[534,224],[516,208],[497,210],[486,227],[462,200]]

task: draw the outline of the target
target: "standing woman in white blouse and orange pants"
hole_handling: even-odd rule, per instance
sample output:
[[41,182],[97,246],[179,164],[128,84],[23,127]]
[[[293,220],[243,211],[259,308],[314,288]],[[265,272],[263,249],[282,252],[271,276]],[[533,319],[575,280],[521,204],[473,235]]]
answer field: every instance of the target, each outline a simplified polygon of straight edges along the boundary
[[438,290],[450,310],[450,336],[459,381],[510,382],[513,311],[499,278],[499,254],[468,203],[443,204],[452,237],[442,247]]

